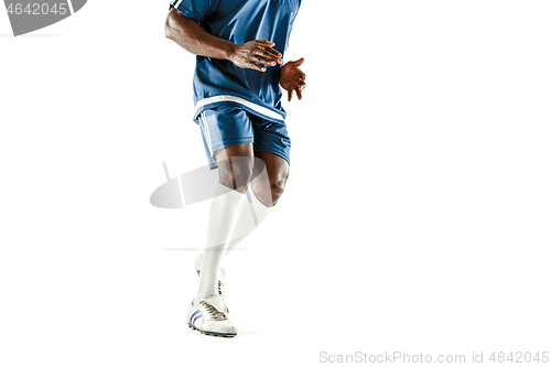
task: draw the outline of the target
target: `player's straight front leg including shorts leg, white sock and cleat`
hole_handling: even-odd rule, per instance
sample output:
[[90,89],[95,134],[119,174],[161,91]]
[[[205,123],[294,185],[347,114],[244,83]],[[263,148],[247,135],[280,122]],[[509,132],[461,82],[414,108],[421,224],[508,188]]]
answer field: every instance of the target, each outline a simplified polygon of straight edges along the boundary
[[190,327],[205,334],[234,336],[237,331],[227,319],[218,280],[239,208],[253,169],[253,133],[250,119],[239,108],[220,106],[202,112],[198,121],[210,168],[218,166],[216,188],[201,258],[201,278],[190,305]]

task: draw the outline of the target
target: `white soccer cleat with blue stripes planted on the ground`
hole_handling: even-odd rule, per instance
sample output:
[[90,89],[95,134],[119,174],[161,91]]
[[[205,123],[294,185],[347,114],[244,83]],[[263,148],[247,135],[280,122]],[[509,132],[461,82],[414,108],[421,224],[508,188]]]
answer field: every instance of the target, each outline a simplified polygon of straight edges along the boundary
[[224,311],[224,300],[209,296],[195,304],[192,301],[187,311],[187,326],[205,335],[234,337],[237,330]]

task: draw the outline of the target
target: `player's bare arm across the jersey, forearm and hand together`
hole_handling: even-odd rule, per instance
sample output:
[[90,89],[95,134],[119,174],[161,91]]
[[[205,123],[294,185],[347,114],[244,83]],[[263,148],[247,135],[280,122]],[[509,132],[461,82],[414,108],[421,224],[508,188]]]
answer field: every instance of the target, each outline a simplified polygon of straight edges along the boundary
[[266,67],[281,64],[281,54],[273,50],[273,42],[267,40],[249,41],[235,44],[208,34],[194,19],[187,18],[175,8],[171,8],[164,24],[164,34],[192,54],[229,60],[242,68],[266,72]]

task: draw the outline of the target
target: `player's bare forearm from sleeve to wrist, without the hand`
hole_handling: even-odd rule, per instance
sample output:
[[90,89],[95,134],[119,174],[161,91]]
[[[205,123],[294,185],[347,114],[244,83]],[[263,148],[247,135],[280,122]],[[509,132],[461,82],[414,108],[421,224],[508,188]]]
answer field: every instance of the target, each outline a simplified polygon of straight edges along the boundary
[[235,44],[208,34],[197,22],[172,8],[166,18],[164,33],[168,39],[192,54],[229,60]]

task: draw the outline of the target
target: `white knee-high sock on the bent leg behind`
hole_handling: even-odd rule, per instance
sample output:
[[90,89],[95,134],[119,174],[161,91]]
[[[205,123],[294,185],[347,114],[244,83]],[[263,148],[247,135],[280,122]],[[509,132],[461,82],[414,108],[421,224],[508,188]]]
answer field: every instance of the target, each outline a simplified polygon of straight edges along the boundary
[[[255,196],[255,193],[249,187],[247,196],[250,197],[244,201],[239,209],[239,217],[236,227],[231,234],[231,241],[228,245],[227,252],[239,245],[246,237],[248,237],[273,211],[272,206],[266,206]],[[227,253],[226,252],[226,253]]]

